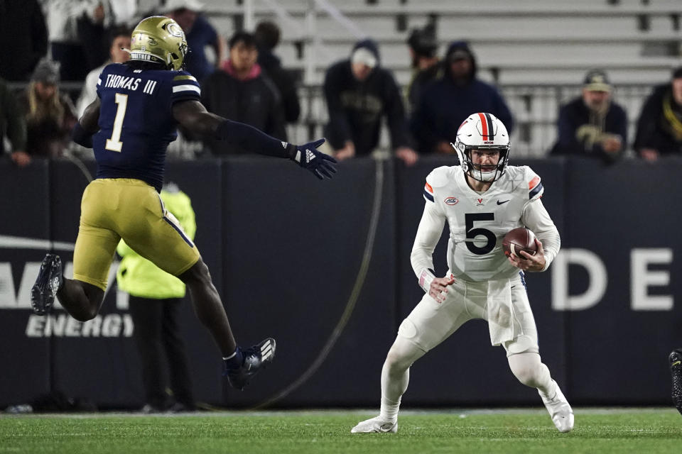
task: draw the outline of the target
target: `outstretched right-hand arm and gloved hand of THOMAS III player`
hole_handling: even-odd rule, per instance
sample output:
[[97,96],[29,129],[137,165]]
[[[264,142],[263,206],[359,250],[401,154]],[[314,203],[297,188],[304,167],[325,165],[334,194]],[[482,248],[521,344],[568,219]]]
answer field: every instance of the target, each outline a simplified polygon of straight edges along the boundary
[[288,157],[313,172],[319,179],[331,178],[336,173],[336,160],[317,150],[325,139],[305,145],[293,145],[271,137],[253,126],[211,114],[203,104],[195,100],[173,104],[173,117],[191,133],[213,136],[260,155]]

